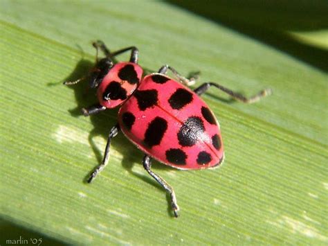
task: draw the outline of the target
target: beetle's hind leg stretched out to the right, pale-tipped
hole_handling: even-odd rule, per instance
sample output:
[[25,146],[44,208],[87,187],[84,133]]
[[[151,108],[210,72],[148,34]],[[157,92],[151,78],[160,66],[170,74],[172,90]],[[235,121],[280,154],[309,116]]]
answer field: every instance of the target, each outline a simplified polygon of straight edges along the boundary
[[264,96],[269,96],[272,94],[271,89],[264,89],[262,91],[259,91],[259,93],[257,93],[255,96],[252,96],[250,98],[246,98],[246,96],[239,94],[235,91],[232,91],[226,87],[223,87],[222,85],[218,85],[214,82],[206,82],[203,83],[203,85],[197,87],[196,89],[194,89],[194,92],[201,96],[201,94],[205,93],[211,86],[216,87],[217,89],[221,89],[221,91],[224,91],[226,94],[232,96],[233,98],[235,98],[236,100],[241,101],[242,103],[255,103],[257,102],[259,99],[261,99]]

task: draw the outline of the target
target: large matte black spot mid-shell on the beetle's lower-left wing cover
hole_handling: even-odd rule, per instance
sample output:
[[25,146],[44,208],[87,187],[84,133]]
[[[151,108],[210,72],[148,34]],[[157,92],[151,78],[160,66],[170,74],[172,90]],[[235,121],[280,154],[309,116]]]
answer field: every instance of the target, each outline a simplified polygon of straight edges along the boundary
[[164,118],[156,117],[149,123],[148,128],[145,132],[144,142],[152,148],[152,146],[157,146],[161,143],[163,136],[167,130],[167,121]]

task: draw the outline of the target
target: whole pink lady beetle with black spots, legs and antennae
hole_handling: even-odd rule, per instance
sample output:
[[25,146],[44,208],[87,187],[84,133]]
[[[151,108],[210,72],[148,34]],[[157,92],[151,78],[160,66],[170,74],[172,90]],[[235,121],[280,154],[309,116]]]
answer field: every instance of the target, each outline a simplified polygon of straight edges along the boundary
[[[106,56],[99,61],[97,59],[90,74],[90,87],[98,87],[99,104],[82,109],[82,112],[84,116],[89,116],[117,106],[120,106],[120,111],[118,124],[109,132],[104,159],[88,182],[107,165],[111,139],[122,130],[137,148],[145,152],[143,166],[170,194],[174,216],[177,217],[179,207],[174,190],[152,171],[152,159],[182,170],[219,166],[224,160],[219,123],[199,96],[213,86],[243,103],[254,103],[271,91],[266,89],[252,98],[246,98],[213,82],[206,82],[192,91],[183,84],[190,85],[194,79],[184,78],[168,65],[142,79],[143,69],[137,64],[136,47],[111,53],[103,42],[97,41],[93,46],[97,54],[100,49]],[[111,58],[125,51],[131,51],[129,62],[113,64]],[[168,69],[179,82],[165,75]],[[78,81],[65,82],[65,85]]]

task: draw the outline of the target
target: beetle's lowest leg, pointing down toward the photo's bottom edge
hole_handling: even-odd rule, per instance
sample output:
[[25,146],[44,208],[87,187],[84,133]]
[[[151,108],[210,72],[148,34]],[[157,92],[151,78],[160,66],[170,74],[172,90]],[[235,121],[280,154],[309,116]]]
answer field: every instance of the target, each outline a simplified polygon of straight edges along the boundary
[[158,184],[161,184],[161,186],[165,188],[167,193],[170,194],[174,216],[178,217],[179,206],[178,204],[176,204],[176,196],[174,190],[170,186],[170,184],[167,184],[167,182],[161,176],[157,175],[156,173],[153,173],[153,171],[150,169],[152,167],[152,157],[150,157],[149,155],[145,155],[143,157],[143,167],[145,168],[145,170],[147,170],[147,173],[149,173],[149,175],[152,176],[158,182]]

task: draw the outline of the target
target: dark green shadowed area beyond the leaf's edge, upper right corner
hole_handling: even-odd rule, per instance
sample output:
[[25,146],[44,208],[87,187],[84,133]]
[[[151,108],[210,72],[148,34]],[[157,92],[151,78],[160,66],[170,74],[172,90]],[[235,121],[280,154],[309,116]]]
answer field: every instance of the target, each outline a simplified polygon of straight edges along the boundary
[[328,71],[328,50],[300,42],[293,32],[327,30],[327,1],[183,1],[167,0],[227,28]]

